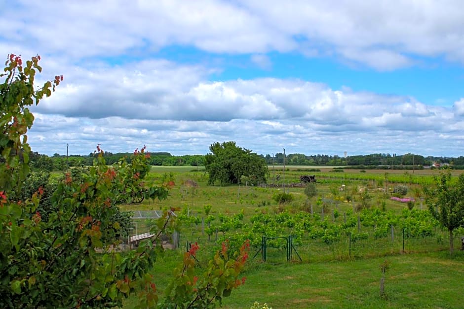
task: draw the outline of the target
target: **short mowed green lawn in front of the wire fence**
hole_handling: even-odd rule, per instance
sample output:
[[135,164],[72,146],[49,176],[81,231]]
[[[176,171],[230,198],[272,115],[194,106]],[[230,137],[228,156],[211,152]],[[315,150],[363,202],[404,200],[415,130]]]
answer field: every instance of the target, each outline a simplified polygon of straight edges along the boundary
[[[380,265],[387,260],[385,297]],[[224,308],[464,308],[464,254],[405,254],[345,262],[261,265]]]

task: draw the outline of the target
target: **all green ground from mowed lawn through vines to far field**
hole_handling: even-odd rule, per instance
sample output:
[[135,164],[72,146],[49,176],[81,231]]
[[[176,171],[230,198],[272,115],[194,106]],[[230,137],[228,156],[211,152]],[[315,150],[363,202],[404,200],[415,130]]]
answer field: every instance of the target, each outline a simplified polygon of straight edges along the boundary
[[[225,308],[250,308],[255,301],[274,309],[462,306],[458,295],[464,254],[459,249],[464,230],[456,233],[451,257],[448,233],[425,202],[423,189],[433,184],[438,171],[286,167],[284,173],[277,166],[269,170],[267,184],[260,186],[208,186],[203,167],[152,168],[149,178],[175,183],[167,200],[121,208],[179,209],[180,247],[166,252],[153,270],[159,291],[180,265],[189,243],[199,244],[201,271],[222,241],[236,248],[248,239],[247,282],[224,299]],[[316,196],[307,197],[301,175],[315,175]],[[293,199],[278,203],[275,197],[284,192]],[[148,232],[153,224],[137,220],[137,233]],[[389,270],[386,295],[380,297],[384,261]],[[135,299],[128,299],[125,308],[133,304]]]

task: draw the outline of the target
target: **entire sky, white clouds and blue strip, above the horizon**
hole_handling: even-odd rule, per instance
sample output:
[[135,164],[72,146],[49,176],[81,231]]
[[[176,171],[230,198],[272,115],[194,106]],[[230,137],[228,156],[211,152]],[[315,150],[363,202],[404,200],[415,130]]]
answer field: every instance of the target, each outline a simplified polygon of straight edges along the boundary
[[[392,4],[394,3],[394,5]],[[0,0],[34,151],[464,155],[461,0]]]

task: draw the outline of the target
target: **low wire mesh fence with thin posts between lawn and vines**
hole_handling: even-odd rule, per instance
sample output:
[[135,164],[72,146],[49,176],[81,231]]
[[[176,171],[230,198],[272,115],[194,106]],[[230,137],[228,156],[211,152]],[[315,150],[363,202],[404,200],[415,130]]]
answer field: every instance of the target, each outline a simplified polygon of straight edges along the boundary
[[[396,255],[403,253],[425,253],[449,250],[449,241],[445,231],[437,231],[432,237],[409,237],[407,232],[399,230],[387,237],[374,237],[367,234],[363,238],[355,238],[350,233],[340,235],[336,240],[327,243],[326,241],[316,238],[310,238],[305,235],[300,238],[296,237],[277,237],[266,238],[261,243],[255,243],[251,248],[251,256],[254,259],[266,263],[279,264],[289,261],[293,262],[320,262],[332,260],[347,260],[357,258],[380,257],[387,255]],[[290,243],[288,239],[291,239]],[[225,239],[227,239],[227,234]],[[194,237],[188,234],[181,234],[180,243],[197,242],[200,248],[218,248],[219,242],[207,240],[204,237]],[[461,249],[461,238],[454,239],[455,249]],[[187,249],[187,248],[186,248]]]

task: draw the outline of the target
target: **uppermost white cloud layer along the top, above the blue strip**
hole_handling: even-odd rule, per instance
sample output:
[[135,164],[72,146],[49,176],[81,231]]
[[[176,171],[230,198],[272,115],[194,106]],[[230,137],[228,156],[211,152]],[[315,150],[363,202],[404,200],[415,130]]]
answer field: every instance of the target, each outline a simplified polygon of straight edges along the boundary
[[[296,51],[378,70],[444,57],[464,63],[460,0],[0,2],[0,52],[23,45],[69,61],[143,56],[173,44],[211,53]],[[25,50],[21,50],[26,52]],[[260,59],[261,57],[261,59]]]

